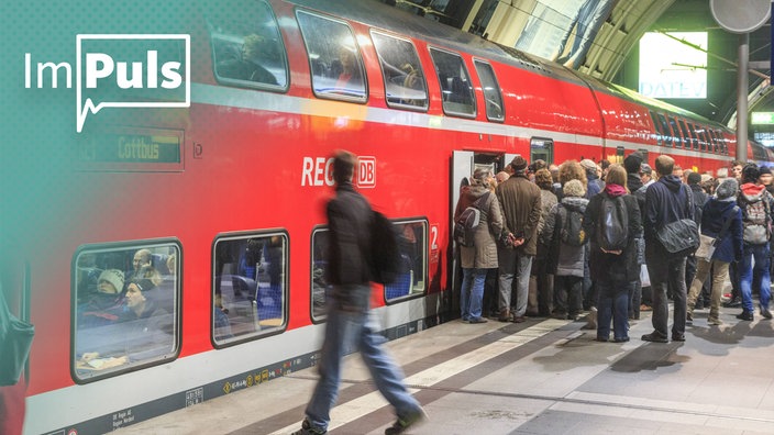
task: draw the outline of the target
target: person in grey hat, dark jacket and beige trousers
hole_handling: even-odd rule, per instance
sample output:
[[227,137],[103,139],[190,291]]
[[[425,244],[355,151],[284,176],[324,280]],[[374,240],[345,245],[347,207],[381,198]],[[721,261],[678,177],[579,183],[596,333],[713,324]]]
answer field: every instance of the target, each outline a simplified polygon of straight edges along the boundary
[[[701,209],[701,234],[719,242],[715,245],[715,252],[709,259],[698,258],[696,277],[690,283],[688,292],[687,322],[694,322],[696,300],[711,269],[712,290],[709,297],[710,308],[707,323],[710,325],[722,324],[720,321],[720,298],[728,279],[728,266],[731,261],[739,261],[742,258],[742,211],[737,207],[738,192],[737,179],[727,178],[718,186],[715,197],[709,198]],[[723,228],[727,222],[728,226]]]

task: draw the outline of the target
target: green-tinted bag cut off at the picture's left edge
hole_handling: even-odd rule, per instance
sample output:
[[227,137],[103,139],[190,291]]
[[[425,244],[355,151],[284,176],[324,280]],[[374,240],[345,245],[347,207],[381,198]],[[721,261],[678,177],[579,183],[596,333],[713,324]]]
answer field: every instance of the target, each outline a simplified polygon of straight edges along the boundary
[[0,386],[15,386],[30,356],[35,327],[16,319],[0,289]]

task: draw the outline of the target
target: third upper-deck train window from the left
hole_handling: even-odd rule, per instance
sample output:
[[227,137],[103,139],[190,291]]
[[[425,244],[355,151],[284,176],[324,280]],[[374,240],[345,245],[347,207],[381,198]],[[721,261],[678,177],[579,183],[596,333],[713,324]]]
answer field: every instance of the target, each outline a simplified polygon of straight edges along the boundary
[[413,44],[407,40],[371,32],[385,79],[387,105],[402,109],[428,108],[428,85]]

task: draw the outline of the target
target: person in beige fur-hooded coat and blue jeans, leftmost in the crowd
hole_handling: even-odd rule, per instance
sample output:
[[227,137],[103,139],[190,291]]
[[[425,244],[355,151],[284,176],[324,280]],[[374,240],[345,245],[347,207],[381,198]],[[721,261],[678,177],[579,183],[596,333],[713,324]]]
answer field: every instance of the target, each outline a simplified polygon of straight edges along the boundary
[[471,186],[463,188],[454,212],[456,221],[466,208],[478,201],[480,219],[473,246],[460,246],[463,272],[460,308],[462,321],[466,323],[486,323],[486,319],[482,316],[484,281],[487,269],[498,265],[497,237],[502,232],[502,214],[497,196],[489,189],[490,178],[491,172],[488,170],[476,169]]

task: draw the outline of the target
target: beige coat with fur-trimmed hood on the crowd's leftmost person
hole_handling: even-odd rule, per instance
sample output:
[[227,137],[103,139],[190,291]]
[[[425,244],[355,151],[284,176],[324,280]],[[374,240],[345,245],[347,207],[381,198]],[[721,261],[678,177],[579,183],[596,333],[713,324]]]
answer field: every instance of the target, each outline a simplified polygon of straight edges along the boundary
[[497,261],[497,237],[502,232],[502,214],[497,196],[483,185],[464,187],[460,194],[460,202],[454,212],[456,221],[479,198],[487,196],[480,205],[480,221],[473,238],[473,246],[461,246],[460,260],[465,269],[494,269]]

